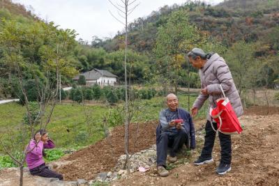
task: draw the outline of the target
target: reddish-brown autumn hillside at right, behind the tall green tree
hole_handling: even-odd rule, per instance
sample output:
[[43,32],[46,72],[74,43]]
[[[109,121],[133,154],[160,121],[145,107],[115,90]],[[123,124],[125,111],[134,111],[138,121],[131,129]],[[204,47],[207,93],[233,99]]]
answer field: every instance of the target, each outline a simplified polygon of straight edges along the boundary
[[[240,89],[272,88],[278,84],[279,1],[232,0],[218,6],[188,1],[183,6],[164,6],[128,26],[130,48],[156,58],[154,47],[158,38],[154,36],[158,36],[160,28],[164,28],[169,17],[177,11],[185,13],[186,20],[197,28],[197,32],[223,46],[223,54],[235,78],[239,79],[236,81]],[[123,35],[119,32],[109,40],[94,37],[91,44],[107,52],[116,51],[123,45]],[[246,50],[241,54],[243,49]],[[257,77],[250,79],[253,75]],[[246,85],[241,84],[240,79],[246,79]]]

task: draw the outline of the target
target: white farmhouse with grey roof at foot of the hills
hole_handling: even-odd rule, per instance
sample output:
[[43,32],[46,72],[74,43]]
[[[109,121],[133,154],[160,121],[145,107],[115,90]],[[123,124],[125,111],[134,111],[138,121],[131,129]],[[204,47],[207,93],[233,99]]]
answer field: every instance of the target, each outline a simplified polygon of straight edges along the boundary
[[[84,75],[86,80],[86,85],[91,86],[93,84],[98,84],[99,86],[114,86],[116,83],[116,75],[113,75],[111,72],[107,70],[98,70],[93,69],[89,72],[81,73],[80,75]],[[80,78],[80,75],[77,75],[73,78],[75,82]]]

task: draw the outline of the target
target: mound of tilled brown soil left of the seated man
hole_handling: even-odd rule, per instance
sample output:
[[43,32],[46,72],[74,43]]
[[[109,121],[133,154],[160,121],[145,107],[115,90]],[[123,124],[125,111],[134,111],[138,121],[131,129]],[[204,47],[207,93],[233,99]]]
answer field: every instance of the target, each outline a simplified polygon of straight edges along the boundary
[[[156,126],[158,123],[131,123],[129,134],[129,153],[137,153],[149,148],[156,141]],[[120,155],[124,153],[124,126],[115,127],[110,137],[96,144],[78,150],[63,157],[62,161],[71,161],[56,169],[62,173],[65,180],[83,178],[91,180],[97,173],[112,171]],[[60,160],[59,160],[60,161]]]

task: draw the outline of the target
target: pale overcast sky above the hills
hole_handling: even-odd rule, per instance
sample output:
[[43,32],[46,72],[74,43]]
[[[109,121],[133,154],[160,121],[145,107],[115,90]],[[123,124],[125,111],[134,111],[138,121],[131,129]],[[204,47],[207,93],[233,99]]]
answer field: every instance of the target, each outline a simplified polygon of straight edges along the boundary
[[[113,3],[120,0],[111,0]],[[205,0],[207,3],[216,4],[223,0]],[[33,8],[33,13],[47,22],[54,22],[63,29],[75,29],[79,35],[77,38],[91,41],[92,36],[99,38],[112,38],[117,31],[123,29],[123,24],[117,22],[109,10],[118,15],[108,0],[13,0],[23,4],[28,10]],[[146,17],[153,10],[159,10],[165,5],[177,3],[181,5],[183,0],[137,0],[140,5],[130,15],[129,20],[137,17]]]

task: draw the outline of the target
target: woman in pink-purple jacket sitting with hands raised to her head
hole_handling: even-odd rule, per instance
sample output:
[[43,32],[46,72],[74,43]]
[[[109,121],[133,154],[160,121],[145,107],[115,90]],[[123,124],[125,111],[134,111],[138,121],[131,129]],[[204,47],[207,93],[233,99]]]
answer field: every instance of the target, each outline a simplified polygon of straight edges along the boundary
[[43,160],[43,156],[45,156],[44,148],[54,148],[54,146],[53,141],[48,137],[47,131],[38,130],[36,132],[27,147],[26,161],[31,175],[63,180],[63,176],[48,169]]

